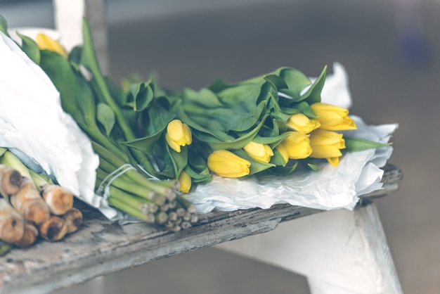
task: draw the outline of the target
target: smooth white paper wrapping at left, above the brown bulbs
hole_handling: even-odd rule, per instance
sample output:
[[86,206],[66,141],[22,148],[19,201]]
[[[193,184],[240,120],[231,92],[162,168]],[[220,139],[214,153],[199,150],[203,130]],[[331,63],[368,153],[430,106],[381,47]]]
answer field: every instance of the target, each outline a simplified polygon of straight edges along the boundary
[[112,219],[117,210],[94,193],[98,155],[61,108],[51,79],[0,32],[0,146],[44,172]]

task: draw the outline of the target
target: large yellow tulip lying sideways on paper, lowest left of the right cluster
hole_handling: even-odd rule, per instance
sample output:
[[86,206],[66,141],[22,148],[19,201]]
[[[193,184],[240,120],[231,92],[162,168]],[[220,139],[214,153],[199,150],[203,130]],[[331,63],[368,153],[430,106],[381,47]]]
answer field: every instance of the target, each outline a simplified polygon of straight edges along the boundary
[[208,168],[220,177],[237,178],[250,173],[250,162],[231,151],[217,150],[208,156]]

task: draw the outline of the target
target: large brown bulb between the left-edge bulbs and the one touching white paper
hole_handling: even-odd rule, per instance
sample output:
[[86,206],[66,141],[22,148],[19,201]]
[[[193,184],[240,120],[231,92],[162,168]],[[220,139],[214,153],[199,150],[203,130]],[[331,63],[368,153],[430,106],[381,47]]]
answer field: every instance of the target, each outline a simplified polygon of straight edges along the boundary
[[11,204],[28,222],[37,225],[45,222],[51,215],[34,182],[27,177],[23,177],[20,190],[11,194]]

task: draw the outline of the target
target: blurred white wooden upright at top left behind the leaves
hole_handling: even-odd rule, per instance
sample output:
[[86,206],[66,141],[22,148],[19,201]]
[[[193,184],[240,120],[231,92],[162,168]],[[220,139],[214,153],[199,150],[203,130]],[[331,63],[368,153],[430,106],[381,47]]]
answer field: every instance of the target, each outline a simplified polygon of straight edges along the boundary
[[60,42],[68,51],[82,44],[82,20],[86,16],[99,65],[107,74],[109,63],[105,0],[53,0],[53,11]]

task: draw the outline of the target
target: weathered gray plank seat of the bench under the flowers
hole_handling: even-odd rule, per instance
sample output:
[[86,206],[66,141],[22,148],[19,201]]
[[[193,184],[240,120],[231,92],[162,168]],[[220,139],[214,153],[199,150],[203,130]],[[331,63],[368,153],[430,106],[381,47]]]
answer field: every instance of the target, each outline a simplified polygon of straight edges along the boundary
[[[363,196],[362,203],[396,190],[400,179],[398,167],[385,166],[384,189]],[[50,293],[152,260],[271,231],[280,222],[321,211],[288,204],[266,210],[214,211],[200,215],[192,228],[174,233],[144,223],[119,226],[98,210],[75,205],[84,212],[84,223],[75,234],[0,257],[0,293]]]

